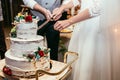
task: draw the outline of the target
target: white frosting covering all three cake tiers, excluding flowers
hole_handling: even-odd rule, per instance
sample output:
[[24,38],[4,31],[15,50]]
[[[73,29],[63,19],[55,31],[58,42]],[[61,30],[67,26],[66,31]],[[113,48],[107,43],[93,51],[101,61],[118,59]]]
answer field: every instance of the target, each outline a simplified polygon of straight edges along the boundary
[[6,66],[12,70],[12,74],[26,76],[26,72],[27,75],[33,75],[37,69],[50,69],[50,54],[48,57],[40,57],[38,61],[31,62],[23,56],[34,53],[38,47],[43,48],[43,37],[36,34],[37,23],[23,22],[16,27],[17,38],[10,38],[10,50],[5,53]]

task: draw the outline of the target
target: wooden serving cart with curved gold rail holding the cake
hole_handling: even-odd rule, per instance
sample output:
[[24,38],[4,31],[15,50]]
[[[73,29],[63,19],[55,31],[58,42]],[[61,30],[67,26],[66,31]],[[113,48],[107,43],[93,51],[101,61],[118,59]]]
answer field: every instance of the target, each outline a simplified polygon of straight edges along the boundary
[[[70,61],[67,61],[67,56],[72,56]],[[64,55],[64,62],[51,60],[52,68],[50,71],[37,70],[34,77],[18,77],[8,76],[2,72],[5,66],[5,59],[0,60],[0,80],[65,80],[72,72],[72,63],[78,59],[78,54],[75,52],[66,52]],[[39,76],[39,73],[44,75]]]

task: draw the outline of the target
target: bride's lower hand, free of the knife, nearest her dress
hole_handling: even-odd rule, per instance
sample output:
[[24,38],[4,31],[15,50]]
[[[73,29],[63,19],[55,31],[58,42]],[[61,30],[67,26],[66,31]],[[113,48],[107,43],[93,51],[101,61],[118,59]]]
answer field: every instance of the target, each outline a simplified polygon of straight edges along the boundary
[[71,22],[69,20],[62,20],[62,21],[57,21],[54,25],[54,29],[61,31],[71,25]]

